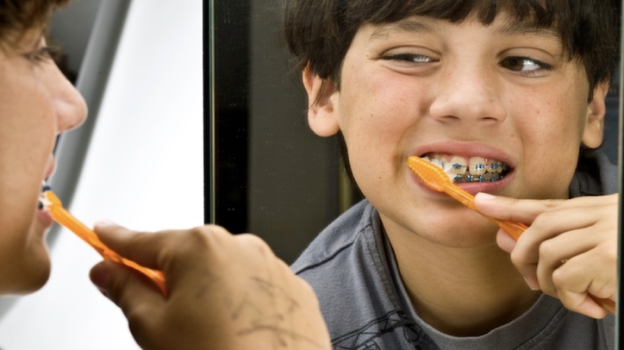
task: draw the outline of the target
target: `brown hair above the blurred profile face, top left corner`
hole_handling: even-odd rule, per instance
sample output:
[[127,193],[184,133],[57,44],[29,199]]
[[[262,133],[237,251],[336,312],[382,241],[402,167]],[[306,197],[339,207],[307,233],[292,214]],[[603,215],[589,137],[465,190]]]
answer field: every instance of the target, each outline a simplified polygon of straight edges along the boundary
[[0,0],[0,42],[15,44],[31,28],[44,28],[55,8],[71,0]]

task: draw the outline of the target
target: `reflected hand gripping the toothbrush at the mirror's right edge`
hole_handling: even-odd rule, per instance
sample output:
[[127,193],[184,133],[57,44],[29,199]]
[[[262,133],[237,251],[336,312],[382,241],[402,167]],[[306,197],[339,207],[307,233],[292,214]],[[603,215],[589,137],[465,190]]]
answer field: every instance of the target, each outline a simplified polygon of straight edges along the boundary
[[483,214],[531,224],[517,241],[504,230],[496,237],[530,287],[590,317],[614,313],[618,194],[543,201],[477,194],[475,203]]

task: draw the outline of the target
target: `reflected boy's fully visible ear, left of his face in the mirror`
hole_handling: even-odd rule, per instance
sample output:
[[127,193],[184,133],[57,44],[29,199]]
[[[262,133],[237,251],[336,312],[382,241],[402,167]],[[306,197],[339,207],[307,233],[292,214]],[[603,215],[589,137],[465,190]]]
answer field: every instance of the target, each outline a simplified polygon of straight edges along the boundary
[[332,136],[340,130],[333,106],[336,84],[329,79],[323,80],[308,67],[302,74],[308,93],[308,125],[318,136]]

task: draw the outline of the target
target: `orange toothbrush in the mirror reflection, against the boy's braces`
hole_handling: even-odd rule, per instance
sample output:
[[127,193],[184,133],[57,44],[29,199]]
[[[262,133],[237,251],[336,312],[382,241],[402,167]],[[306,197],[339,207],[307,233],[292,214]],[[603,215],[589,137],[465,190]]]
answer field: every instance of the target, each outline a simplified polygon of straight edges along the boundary
[[[476,205],[474,205],[474,196],[462,190],[458,185],[455,185],[441,167],[417,156],[410,156],[407,161],[407,166],[412,169],[412,172],[414,172],[427,187],[431,188],[431,190],[446,192],[449,196],[453,197],[453,199],[458,200],[463,205],[466,205],[468,208],[496,223],[496,225],[499,225],[500,228],[508,232],[515,240],[518,240],[520,235],[528,228],[528,226],[523,223],[499,220],[479,212],[476,209]],[[600,299],[593,295],[590,295],[590,297],[605,310],[610,313],[615,313],[616,304],[613,300]]]

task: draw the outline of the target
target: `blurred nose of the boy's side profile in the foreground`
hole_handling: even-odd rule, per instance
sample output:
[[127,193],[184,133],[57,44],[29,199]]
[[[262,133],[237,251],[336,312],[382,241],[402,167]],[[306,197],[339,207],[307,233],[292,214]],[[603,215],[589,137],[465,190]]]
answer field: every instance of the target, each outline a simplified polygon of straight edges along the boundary
[[69,131],[87,118],[87,103],[76,87],[67,80],[56,64],[50,64],[47,82],[57,118],[58,133]]

